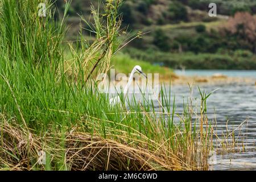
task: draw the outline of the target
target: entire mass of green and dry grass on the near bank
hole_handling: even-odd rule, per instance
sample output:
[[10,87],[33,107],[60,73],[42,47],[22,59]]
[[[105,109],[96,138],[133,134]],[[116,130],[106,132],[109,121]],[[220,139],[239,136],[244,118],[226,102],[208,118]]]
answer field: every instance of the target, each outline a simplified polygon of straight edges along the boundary
[[93,11],[97,39],[69,44],[71,60],[60,45],[69,1],[61,23],[51,13],[37,16],[39,0],[0,2],[1,169],[208,169],[214,134],[209,95],[201,92],[199,115],[191,102],[177,114],[164,88],[156,111],[146,99],[131,101],[129,110],[110,107],[108,94],[94,87],[119,47],[121,1],[107,2],[104,15]]

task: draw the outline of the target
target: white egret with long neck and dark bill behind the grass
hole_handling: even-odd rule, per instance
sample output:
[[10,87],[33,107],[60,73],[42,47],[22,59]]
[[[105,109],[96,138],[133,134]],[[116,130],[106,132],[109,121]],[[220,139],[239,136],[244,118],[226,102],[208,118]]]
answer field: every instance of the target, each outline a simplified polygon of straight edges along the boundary
[[[127,82],[127,85],[125,86],[125,89],[123,90],[123,94],[124,94],[124,98],[126,99],[127,97],[127,94],[128,94],[128,90],[130,88],[130,85],[131,83],[133,82],[133,76],[134,76],[134,73],[141,73],[144,77],[147,78],[146,74],[142,72],[142,69],[139,65],[135,66],[133,68],[133,71],[131,71],[131,74],[130,74],[130,77],[129,77],[129,80]],[[121,98],[119,96],[116,96],[116,97],[113,97],[113,98],[110,98],[109,100],[109,104],[114,106],[114,105],[117,105],[117,104],[121,104]]]

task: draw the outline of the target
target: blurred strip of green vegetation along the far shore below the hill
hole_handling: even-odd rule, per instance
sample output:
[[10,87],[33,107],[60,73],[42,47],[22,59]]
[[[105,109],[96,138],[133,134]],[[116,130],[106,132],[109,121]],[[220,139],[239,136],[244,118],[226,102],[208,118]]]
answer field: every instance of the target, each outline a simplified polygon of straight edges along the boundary
[[222,53],[169,53],[141,51],[127,48],[125,52],[133,59],[147,60],[151,64],[164,65],[174,69],[256,69],[256,56],[250,51],[237,50]]

